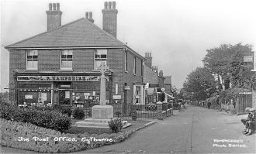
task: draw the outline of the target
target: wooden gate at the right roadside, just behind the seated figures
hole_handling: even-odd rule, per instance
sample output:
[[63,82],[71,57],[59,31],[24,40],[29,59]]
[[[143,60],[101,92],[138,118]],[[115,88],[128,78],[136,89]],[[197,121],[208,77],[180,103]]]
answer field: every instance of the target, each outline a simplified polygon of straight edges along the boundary
[[251,92],[238,94],[237,101],[236,101],[237,114],[244,114],[245,108],[251,107],[251,105],[252,105]]

